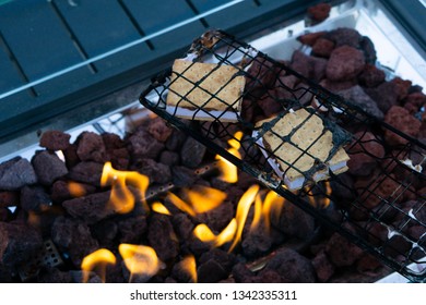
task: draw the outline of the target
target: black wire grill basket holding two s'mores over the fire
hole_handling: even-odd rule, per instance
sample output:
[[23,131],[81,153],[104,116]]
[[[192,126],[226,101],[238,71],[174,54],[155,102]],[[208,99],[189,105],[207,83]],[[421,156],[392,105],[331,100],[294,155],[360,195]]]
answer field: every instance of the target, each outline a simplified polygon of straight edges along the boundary
[[[393,270],[425,281],[426,269],[419,267],[426,263],[423,143],[226,33],[194,40],[185,62],[182,70],[170,68],[154,77],[141,103]],[[198,63],[212,64],[191,78]],[[206,80],[221,66],[233,72],[212,89]],[[238,77],[245,80],[244,90],[225,97]],[[186,90],[176,89],[178,84]],[[174,107],[167,105],[171,94],[178,100]],[[272,119],[260,110],[264,105]],[[179,112],[180,106],[190,111]],[[298,118],[293,125],[277,127],[292,114]],[[236,137],[236,131],[244,136]],[[228,152],[229,139],[239,143],[240,158]],[[367,176],[352,174],[355,159],[368,166]],[[339,217],[319,203],[333,205]]]

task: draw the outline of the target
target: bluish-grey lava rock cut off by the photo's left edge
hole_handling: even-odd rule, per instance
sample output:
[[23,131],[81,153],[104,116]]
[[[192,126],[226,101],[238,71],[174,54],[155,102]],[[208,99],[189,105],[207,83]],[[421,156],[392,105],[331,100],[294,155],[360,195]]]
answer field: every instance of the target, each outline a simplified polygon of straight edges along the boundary
[[14,191],[37,182],[37,175],[28,160],[15,157],[0,164],[0,190]]

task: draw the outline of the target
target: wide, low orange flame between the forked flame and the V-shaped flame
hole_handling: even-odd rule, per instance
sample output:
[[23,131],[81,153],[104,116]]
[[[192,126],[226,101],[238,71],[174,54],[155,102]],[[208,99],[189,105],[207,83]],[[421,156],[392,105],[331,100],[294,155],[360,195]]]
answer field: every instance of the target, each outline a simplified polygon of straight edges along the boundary
[[206,212],[218,207],[226,198],[226,194],[224,192],[202,185],[194,185],[191,188],[182,188],[182,194],[186,202],[173,193],[167,195],[167,199],[178,209],[192,217],[197,213]]

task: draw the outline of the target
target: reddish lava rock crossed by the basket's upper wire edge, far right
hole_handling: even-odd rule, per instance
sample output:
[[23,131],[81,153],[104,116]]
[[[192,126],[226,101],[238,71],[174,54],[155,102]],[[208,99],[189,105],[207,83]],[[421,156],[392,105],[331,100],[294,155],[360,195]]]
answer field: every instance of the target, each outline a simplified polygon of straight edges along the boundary
[[[384,122],[412,137],[417,136],[422,125],[421,121],[410,114],[409,110],[400,106],[393,106],[389,109],[384,115]],[[403,145],[409,142],[390,130],[384,131],[384,139],[390,145]]]

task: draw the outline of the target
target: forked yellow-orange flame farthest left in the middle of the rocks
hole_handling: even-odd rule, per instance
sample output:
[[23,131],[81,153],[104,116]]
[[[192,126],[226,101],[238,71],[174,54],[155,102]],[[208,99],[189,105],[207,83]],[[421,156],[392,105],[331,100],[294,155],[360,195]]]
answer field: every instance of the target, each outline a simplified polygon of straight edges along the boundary
[[110,162],[104,164],[104,170],[100,178],[100,185],[111,185],[111,195],[108,205],[117,212],[127,213],[133,210],[135,196],[130,192],[127,185],[135,187],[139,192],[142,204],[146,210],[149,207],[145,200],[145,193],[149,185],[149,178],[139,172],[119,171],[113,169]]

